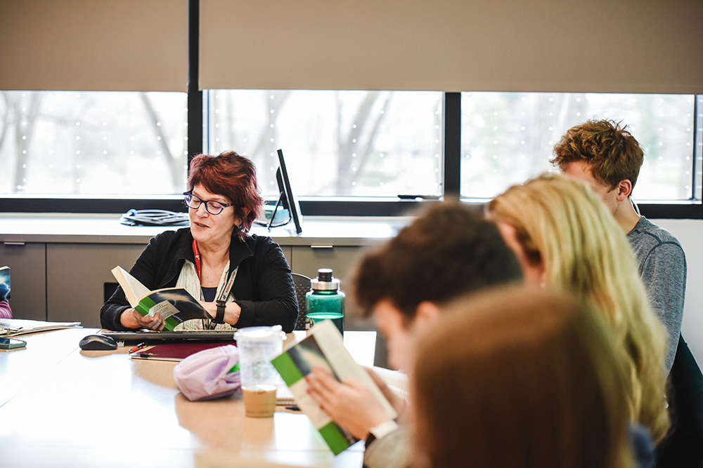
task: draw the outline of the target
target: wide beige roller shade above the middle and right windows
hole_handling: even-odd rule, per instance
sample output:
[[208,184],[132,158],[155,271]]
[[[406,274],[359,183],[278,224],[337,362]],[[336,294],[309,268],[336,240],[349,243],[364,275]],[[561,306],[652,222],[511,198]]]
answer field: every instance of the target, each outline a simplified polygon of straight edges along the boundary
[[200,0],[200,88],[703,93],[703,1]]

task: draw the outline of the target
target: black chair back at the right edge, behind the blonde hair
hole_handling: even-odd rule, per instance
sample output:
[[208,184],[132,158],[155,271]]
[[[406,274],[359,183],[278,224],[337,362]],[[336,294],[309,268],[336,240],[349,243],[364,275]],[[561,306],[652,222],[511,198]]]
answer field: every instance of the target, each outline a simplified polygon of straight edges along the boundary
[[703,374],[683,335],[669,373],[671,431],[657,446],[657,468],[703,467]]

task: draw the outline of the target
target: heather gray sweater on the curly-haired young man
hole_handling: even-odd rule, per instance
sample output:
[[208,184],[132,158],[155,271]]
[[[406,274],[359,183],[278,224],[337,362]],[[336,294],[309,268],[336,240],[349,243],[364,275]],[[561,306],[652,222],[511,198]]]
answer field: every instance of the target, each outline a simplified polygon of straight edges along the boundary
[[640,276],[647,288],[652,309],[669,333],[666,373],[676,356],[686,296],[686,255],[678,239],[644,216],[627,234],[635,252]]

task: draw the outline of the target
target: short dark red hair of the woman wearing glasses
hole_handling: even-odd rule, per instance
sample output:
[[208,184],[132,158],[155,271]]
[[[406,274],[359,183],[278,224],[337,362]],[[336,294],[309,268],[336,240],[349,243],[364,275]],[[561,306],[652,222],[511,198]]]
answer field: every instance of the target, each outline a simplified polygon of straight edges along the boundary
[[233,151],[217,156],[198,154],[191,161],[188,191],[196,185],[233,203],[235,216],[242,220],[237,236],[243,240],[264,206],[254,163]]

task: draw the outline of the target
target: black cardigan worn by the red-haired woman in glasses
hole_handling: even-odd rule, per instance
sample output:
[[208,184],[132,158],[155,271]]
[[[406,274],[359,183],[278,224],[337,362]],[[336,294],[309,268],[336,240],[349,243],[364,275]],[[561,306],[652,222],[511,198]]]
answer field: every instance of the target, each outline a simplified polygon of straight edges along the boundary
[[[172,288],[185,260],[195,262],[190,228],[162,232],[144,248],[129,273],[155,290]],[[239,265],[232,294],[242,308],[237,328],[280,325],[285,332],[295,327],[298,314],[295,286],[283,250],[266,236],[232,236],[229,248],[230,269]],[[129,308],[119,286],[100,310],[103,328],[125,330],[120,315]]]

